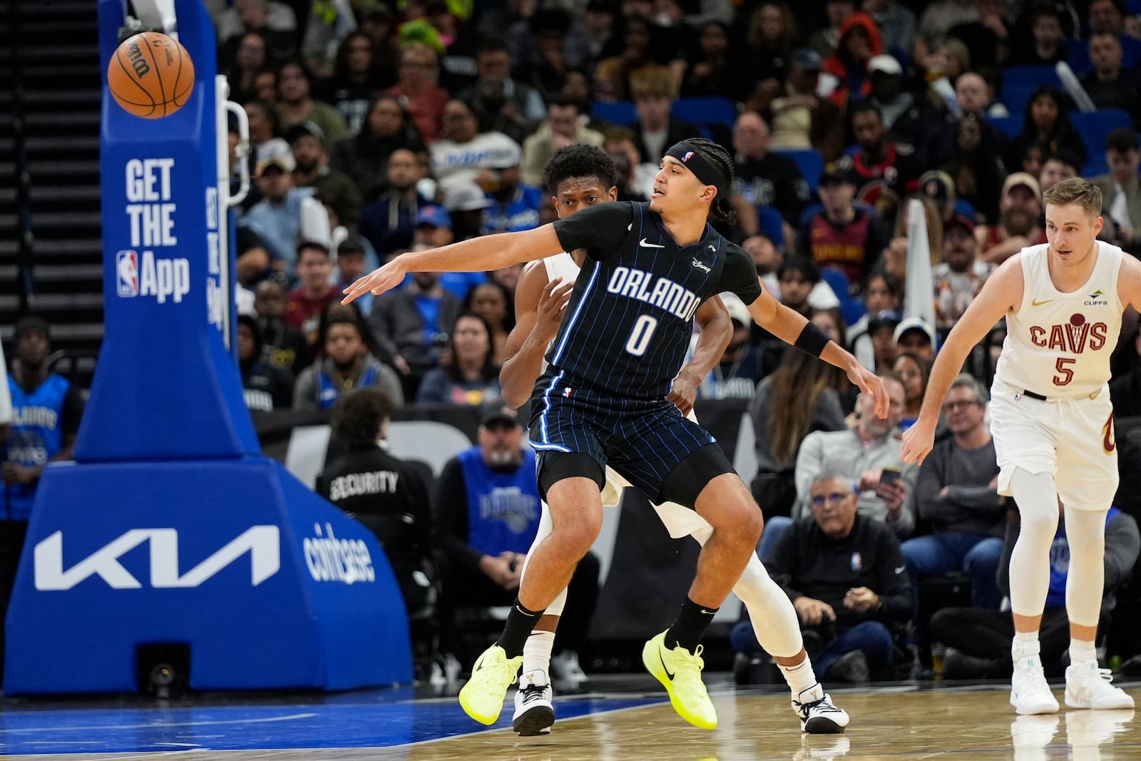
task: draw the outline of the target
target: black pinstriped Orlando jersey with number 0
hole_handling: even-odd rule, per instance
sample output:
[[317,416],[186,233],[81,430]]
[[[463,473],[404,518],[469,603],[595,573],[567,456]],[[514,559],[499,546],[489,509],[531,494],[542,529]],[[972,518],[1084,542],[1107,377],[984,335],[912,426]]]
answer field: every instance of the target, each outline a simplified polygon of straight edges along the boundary
[[602,203],[555,222],[566,251],[586,250],[558,338],[547,353],[564,372],[616,396],[659,399],[681,369],[694,314],[731,291],[761,293],[752,258],[709,225],[679,246],[649,203]]

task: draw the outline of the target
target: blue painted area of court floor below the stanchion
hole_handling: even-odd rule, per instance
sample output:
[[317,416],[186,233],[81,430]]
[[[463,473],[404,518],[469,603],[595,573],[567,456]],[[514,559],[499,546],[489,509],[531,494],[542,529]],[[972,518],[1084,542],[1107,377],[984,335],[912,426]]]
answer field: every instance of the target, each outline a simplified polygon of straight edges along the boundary
[[[559,699],[560,720],[662,703],[647,697]],[[491,729],[511,726],[511,703]],[[391,747],[469,735],[483,728],[454,697],[415,701],[412,689],[353,693],[319,702],[169,709],[9,709],[0,712],[0,752],[140,753],[324,747]]]

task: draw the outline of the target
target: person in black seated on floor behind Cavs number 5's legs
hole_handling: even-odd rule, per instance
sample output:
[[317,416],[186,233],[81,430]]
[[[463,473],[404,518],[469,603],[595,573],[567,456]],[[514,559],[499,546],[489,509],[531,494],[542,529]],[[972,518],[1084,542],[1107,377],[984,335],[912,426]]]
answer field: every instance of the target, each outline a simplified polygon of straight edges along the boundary
[[[1069,569],[1069,545],[1066,542],[1065,511],[1058,521],[1058,533],[1050,549],[1050,586],[1042,614],[1038,639],[1042,642],[1042,666],[1047,677],[1061,677],[1070,643],[1069,620],[1066,615],[1066,581]],[[1018,509],[1006,512],[1006,536],[998,567],[998,584],[1010,591],[1010,556],[1018,541]],[[1110,508],[1106,516],[1104,588],[1101,594],[1099,633],[1104,634],[1109,614],[1116,605],[1115,592],[1130,577],[1136,564],[1141,535],[1136,521]],[[1090,590],[1092,592],[1092,590]],[[931,616],[931,641],[947,646],[944,661],[945,679],[1010,679],[1010,657],[1014,640],[1014,618],[1010,610],[944,608]],[[965,656],[965,657],[964,657]]]

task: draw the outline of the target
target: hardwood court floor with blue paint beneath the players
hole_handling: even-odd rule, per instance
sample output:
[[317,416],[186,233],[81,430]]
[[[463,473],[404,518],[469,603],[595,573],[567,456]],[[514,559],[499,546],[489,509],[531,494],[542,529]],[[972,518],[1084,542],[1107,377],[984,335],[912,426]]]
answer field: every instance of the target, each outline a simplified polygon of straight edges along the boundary
[[[503,728],[475,731],[478,724],[454,698],[386,702],[381,693],[191,707],[185,715],[137,707],[5,710],[0,743],[21,761],[1141,759],[1141,722],[1133,711],[1063,706],[1054,715],[1017,717],[1002,686],[836,691],[852,724],[831,736],[802,735],[784,695],[729,686],[711,690],[720,717],[713,731],[689,727],[667,703],[656,702],[661,694],[647,691],[567,699],[559,704],[561,715],[585,715],[560,719],[543,738]],[[1141,689],[1130,693],[1141,698]],[[1061,697],[1061,689],[1055,694]],[[502,723],[509,719],[508,706]],[[94,747],[126,752],[82,752]],[[42,753],[49,748],[54,753]]]

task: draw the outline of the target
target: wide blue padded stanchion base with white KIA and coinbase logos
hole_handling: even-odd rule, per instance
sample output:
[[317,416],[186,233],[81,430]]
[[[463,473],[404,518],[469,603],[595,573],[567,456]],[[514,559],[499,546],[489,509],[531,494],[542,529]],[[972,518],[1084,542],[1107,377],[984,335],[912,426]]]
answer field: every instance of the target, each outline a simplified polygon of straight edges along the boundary
[[273,460],[54,464],[11,598],[6,695],[135,691],[136,648],[189,646],[199,690],[412,679],[375,539]]

